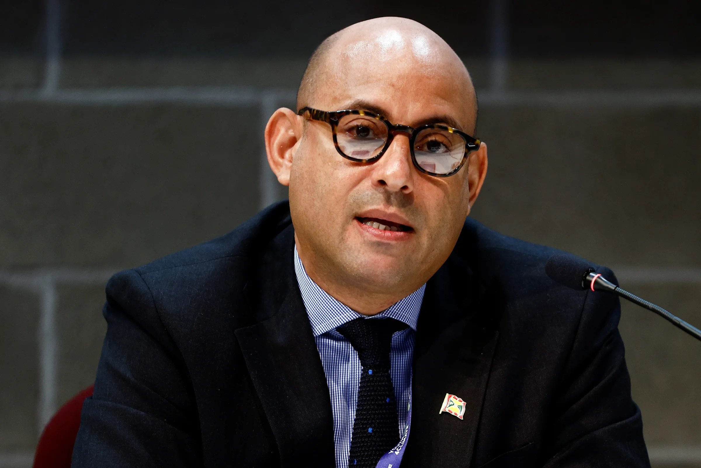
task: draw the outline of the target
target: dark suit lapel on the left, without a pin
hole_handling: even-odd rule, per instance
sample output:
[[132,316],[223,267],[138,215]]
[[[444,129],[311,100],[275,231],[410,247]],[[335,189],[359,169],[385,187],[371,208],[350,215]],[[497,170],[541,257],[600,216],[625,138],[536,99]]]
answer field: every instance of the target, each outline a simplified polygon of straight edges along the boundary
[[[268,255],[275,268],[266,267],[265,259],[261,268],[263,279],[280,273],[283,277],[278,275],[277,282],[272,285],[267,282],[254,288],[259,297],[252,303],[265,309],[254,311],[254,315],[271,316],[235,333],[278,443],[281,465],[299,466],[310,462],[314,466],[333,467],[331,399],[294,276],[294,238],[292,228],[289,230],[290,233],[283,235],[283,248]],[[275,297],[282,298],[279,308],[276,301],[270,299]]]

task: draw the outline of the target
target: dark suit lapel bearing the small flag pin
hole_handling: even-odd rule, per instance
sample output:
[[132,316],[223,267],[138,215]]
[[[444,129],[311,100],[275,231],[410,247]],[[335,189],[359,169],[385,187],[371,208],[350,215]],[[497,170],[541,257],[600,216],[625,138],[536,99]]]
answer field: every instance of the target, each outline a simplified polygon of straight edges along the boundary
[[[489,309],[472,270],[455,255],[428,282],[417,325],[411,433],[402,467],[470,465],[498,339]],[[446,393],[465,401],[463,420],[439,414]]]

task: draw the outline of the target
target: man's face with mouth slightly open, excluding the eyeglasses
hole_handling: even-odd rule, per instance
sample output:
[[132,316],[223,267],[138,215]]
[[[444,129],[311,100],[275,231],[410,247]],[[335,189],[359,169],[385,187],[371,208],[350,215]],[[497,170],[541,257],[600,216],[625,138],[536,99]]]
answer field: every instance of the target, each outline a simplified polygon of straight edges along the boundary
[[[374,111],[411,127],[444,123],[472,132],[474,109],[464,94],[470,90],[455,77],[465,72],[430,53],[417,55],[408,41],[390,34],[384,56],[382,36],[341,46],[309,104],[324,111]],[[379,57],[372,53],[378,48]],[[324,277],[371,293],[409,294],[449,256],[469,200],[468,165],[450,177],[419,172],[406,133],[395,133],[379,160],[363,164],[339,155],[329,124],[304,123],[290,172],[290,209],[299,248]]]

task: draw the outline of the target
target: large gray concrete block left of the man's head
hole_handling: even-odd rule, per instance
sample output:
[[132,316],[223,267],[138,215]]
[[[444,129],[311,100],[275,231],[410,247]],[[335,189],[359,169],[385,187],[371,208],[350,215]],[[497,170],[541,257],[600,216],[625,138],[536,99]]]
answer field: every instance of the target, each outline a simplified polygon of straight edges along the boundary
[[257,211],[257,109],[0,107],[0,266],[128,267]]

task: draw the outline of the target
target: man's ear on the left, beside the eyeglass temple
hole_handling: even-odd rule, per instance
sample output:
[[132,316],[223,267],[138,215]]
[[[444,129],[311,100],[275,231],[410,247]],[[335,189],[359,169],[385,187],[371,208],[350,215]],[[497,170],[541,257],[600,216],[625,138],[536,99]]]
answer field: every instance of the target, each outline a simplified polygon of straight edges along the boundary
[[278,177],[278,182],[290,185],[292,157],[301,141],[304,122],[294,111],[285,107],[273,113],[265,127],[265,151],[268,164]]

